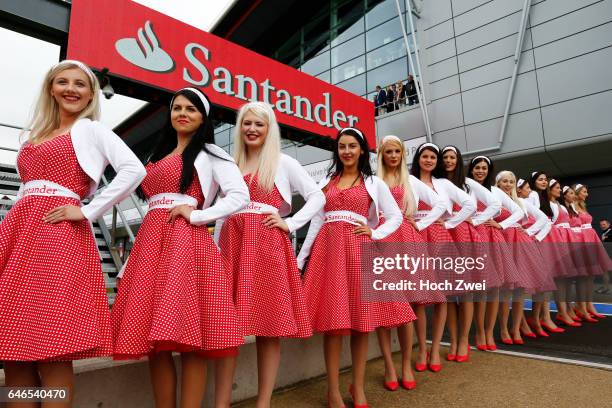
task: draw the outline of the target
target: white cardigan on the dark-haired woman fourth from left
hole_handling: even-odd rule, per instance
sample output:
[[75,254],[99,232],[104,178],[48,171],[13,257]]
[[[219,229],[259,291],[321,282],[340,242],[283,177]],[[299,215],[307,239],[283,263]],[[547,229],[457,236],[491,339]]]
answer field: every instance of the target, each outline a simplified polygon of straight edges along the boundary
[[[320,189],[323,189],[330,182],[329,178],[321,180]],[[372,229],[372,239],[379,240],[392,234],[402,224],[402,212],[400,211],[391,190],[387,184],[376,176],[364,178],[366,190],[372,199],[368,213],[368,226]],[[385,222],[378,228],[378,214],[385,214]],[[302,249],[297,256],[298,268],[303,269],[306,259],[310,256],[312,245],[325,222],[325,211],[321,208],[310,222],[310,228],[302,245]]]

